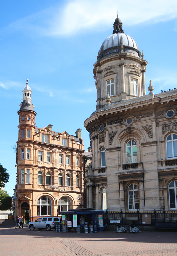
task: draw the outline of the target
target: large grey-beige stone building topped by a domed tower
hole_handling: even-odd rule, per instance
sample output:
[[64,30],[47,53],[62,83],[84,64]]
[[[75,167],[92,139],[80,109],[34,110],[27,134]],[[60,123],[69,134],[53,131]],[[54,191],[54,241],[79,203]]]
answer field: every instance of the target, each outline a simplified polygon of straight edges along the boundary
[[154,95],[150,81],[145,95],[147,64],[117,16],[94,64],[96,111],[84,123],[87,207],[177,210],[177,90]]

